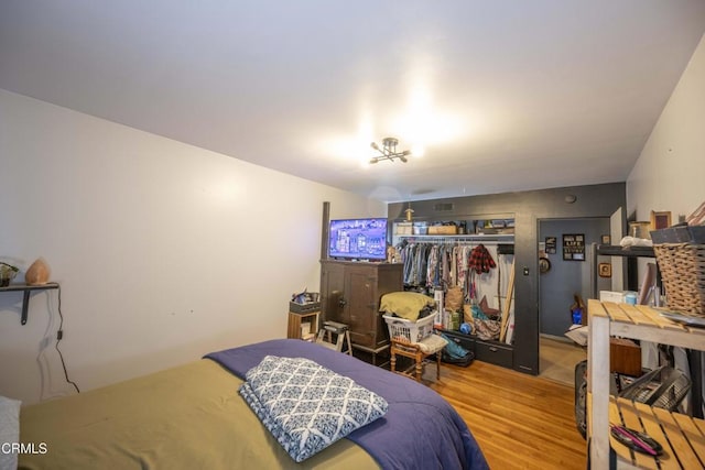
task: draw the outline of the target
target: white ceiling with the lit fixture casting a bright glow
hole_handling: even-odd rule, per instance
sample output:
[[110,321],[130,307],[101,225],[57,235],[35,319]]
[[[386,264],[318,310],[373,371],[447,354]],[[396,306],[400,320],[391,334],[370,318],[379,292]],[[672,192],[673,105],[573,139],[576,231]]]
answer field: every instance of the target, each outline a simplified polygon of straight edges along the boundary
[[[626,181],[705,0],[2,0],[0,88],[382,200]],[[423,146],[381,162],[370,142]]]

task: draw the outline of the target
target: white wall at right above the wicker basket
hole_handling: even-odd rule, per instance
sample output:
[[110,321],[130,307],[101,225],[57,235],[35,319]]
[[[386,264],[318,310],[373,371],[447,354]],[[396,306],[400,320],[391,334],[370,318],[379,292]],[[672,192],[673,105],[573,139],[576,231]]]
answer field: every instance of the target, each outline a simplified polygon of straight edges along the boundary
[[627,179],[627,214],[650,220],[670,210],[673,223],[705,201],[705,36],[673,90]]

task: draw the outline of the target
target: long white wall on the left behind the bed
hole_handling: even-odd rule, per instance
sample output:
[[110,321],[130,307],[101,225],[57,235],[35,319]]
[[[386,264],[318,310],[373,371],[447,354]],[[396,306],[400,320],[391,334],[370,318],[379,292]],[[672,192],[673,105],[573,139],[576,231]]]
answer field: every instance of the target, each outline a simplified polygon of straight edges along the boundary
[[[319,284],[332,217],[386,205],[0,90],[0,260],[43,256],[61,283],[82,390],[286,335],[289,298]],[[23,281],[24,273],[15,281]],[[56,291],[0,294],[0,395],[70,393]]]

